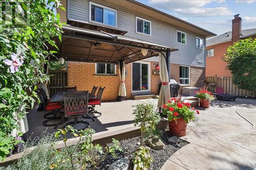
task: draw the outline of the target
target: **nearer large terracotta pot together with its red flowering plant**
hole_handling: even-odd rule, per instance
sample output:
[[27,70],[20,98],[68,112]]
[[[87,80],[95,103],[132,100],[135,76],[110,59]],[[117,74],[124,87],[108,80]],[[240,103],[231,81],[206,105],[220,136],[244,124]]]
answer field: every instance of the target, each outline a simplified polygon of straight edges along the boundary
[[191,108],[190,103],[184,102],[181,96],[172,98],[163,106],[163,114],[168,116],[169,132],[176,136],[185,136],[187,123],[195,120],[194,113],[199,111],[194,107]]

